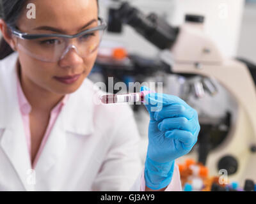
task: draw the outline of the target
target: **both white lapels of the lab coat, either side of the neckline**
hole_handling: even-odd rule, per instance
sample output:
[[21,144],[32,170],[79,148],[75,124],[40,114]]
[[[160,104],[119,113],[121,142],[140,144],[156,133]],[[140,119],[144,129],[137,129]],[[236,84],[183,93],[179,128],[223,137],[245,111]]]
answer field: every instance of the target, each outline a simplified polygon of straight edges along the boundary
[[[14,53],[0,62],[0,128],[4,129],[1,148],[10,159],[17,175],[27,191],[35,190],[35,185],[28,181],[31,175],[31,161],[26,143],[26,136],[19,110],[17,97],[17,80],[15,80],[18,54]],[[4,76],[4,77],[3,77]],[[44,150],[36,164],[36,181],[54,165],[67,146],[65,132],[74,136],[86,136],[93,133],[93,92],[90,80],[70,94],[66,105],[47,139]]]

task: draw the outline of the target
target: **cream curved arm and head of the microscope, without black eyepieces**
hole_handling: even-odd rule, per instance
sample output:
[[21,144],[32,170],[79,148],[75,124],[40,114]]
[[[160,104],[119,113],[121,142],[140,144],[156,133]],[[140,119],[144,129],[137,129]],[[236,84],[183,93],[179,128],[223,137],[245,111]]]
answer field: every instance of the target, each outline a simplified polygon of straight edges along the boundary
[[170,64],[172,73],[213,77],[232,94],[237,103],[236,117],[225,141],[209,152],[206,166],[211,175],[218,175],[220,160],[223,159],[225,168],[232,163],[228,160],[231,157],[236,159],[237,170],[228,179],[255,180],[256,174],[250,166],[256,166],[256,154],[250,147],[256,143],[256,90],[245,64],[224,57],[204,33],[202,22],[186,22],[180,26],[173,47],[164,50],[161,59]]

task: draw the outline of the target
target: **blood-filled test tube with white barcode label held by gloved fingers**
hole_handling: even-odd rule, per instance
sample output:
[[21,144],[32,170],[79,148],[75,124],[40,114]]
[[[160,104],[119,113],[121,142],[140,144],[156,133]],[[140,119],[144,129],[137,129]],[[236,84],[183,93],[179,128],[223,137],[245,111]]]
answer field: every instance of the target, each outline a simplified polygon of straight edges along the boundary
[[129,94],[108,94],[100,97],[100,101],[104,104],[111,103],[134,103],[143,102],[145,96],[150,93],[150,91],[141,91],[138,93]]

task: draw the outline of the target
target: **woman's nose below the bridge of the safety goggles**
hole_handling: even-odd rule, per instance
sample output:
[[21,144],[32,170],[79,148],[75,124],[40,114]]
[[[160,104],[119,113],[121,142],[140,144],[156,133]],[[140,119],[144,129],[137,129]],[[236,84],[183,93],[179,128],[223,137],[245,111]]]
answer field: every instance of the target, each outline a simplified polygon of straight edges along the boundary
[[74,67],[83,63],[83,58],[79,56],[76,46],[70,45],[60,59],[60,66]]

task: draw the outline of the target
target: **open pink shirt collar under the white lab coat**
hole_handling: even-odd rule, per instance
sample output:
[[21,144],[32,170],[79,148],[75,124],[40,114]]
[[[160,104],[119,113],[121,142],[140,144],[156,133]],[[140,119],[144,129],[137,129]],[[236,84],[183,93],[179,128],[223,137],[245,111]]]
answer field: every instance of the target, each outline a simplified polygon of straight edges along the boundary
[[[30,161],[31,161],[31,133],[30,133],[30,122],[29,122],[29,113],[31,113],[31,105],[28,102],[28,99],[26,99],[26,96],[24,95],[24,92],[22,91],[22,87],[20,85],[20,80],[19,76],[17,75],[17,92],[18,92],[18,100],[19,100],[19,107],[20,107],[20,112],[22,115],[22,120],[24,124],[24,130],[25,130],[25,135],[26,135],[26,141],[28,144],[28,152],[30,156]],[[56,119],[58,118],[58,115],[61,112],[61,108],[67,103],[68,100],[68,94],[56,105],[52,111],[51,111],[51,116],[49,120],[49,124],[47,126],[47,129],[45,131],[44,137],[42,138],[42,142],[40,144],[40,147],[38,149],[38,152],[36,152],[35,159],[33,161],[33,164],[31,164],[31,167],[35,169],[36,163],[38,161],[38,158],[44,149],[45,143],[47,141],[47,138],[49,137],[49,134],[51,133],[51,129],[54,126],[54,123]]]

